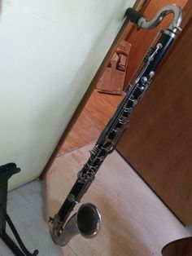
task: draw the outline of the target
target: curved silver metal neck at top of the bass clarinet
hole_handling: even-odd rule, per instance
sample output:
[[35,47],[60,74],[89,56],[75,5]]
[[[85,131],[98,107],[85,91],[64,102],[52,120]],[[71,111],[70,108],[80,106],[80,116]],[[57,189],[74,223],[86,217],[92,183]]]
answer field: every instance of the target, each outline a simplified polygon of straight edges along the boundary
[[155,15],[155,18],[151,21],[146,20],[145,17],[141,17],[137,21],[137,26],[142,29],[153,29],[159,25],[159,23],[164,19],[166,15],[172,13],[174,18],[169,25],[168,29],[173,33],[177,32],[177,29],[180,29],[180,24],[182,20],[182,11],[180,7],[177,7],[175,4],[168,5],[167,7],[163,7],[158,13]]

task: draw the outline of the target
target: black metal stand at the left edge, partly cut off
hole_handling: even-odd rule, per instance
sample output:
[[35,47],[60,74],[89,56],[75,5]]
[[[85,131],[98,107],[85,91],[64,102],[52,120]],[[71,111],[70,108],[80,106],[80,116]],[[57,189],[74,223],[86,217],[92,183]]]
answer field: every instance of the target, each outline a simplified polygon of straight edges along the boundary
[[[24,243],[21,241],[20,236],[11,221],[11,218],[7,214],[8,179],[10,179],[13,174],[18,172],[20,172],[20,168],[17,168],[14,163],[8,163],[7,165],[0,166],[0,238],[2,238],[2,241],[6,243],[14,255],[35,256],[38,254],[38,250],[35,249],[33,254],[28,251],[28,249],[24,246]],[[15,245],[15,242],[12,241],[10,236],[7,235],[6,222],[10,226],[16,241],[20,245],[20,248]]]

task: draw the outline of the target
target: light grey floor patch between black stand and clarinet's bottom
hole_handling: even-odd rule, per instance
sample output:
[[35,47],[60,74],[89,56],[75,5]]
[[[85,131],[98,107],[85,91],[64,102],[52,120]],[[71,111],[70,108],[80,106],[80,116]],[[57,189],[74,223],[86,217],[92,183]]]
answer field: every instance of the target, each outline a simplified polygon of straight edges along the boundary
[[[16,188],[8,193],[7,212],[30,252],[38,249],[39,256],[71,256],[71,249],[67,247],[63,254],[50,238],[43,195],[43,183],[37,180]],[[7,233],[15,241],[8,227]],[[1,239],[0,256],[13,256]]]

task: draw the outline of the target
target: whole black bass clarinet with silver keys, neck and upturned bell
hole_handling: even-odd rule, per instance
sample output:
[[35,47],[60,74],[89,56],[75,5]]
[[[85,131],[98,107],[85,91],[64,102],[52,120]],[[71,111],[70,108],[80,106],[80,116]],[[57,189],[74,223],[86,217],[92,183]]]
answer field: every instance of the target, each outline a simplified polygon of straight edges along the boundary
[[87,238],[94,237],[98,234],[101,227],[101,215],[93,204],[81,205],[72,218],[68,220],[68,217],[72,213],[76,203],[81,201],[81,197],[94,181],[95,174],[104,159],[116,148],[116,143],[123,134],[124,129],[128,126],[130,114],[146,93],[152,78],[155,76],[156,68],[158,68],[160,62],[164,59],[164,55],[166,55],[168,49],[172,46],[177,31],[181,30],[181,8],[174,4],[163,7],[151,21],[146,20],[143,15],[133,8],[128,8],[126,11],[129,20],[138,29],[155,28],[164,19],[164,16],[169,13],[173,14],[172,22],[167,29],[161,30],[156,41],[150,47],[140,70],[137,72],[133,82],[130,83],[129,90],[124,96],[124,99],[117,107],[116,113],[108,121],[107,126],[91,150],[88,161],[77,174],[76,182],[73,184],[63,205],[58,213],[55,214],[54,218],[50,218],[50,233],[56,245],[67,245],[72,236],[79,233]]

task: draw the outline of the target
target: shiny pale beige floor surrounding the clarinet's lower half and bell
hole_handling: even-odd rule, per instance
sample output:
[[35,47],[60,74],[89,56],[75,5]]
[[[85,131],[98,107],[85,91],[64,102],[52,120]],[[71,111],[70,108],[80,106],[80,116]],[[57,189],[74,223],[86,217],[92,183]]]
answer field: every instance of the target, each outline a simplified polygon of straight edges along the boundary
[[[48,215],[59,210],[91,148],[93,144],[55,159],[44,187]],[[101,210],[102,230],[93,240],[74,237],[63,248],[63,255],[69,251],[72,256],[160,256],[168,242],[189,236],[117,152],[104,161],[84,202],[92,202]]]

